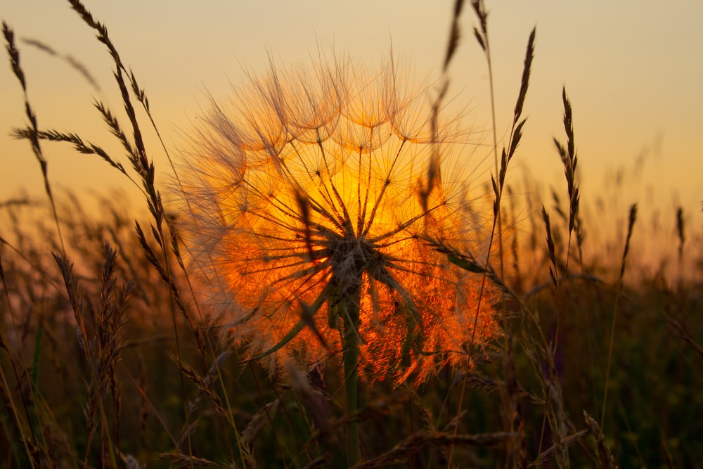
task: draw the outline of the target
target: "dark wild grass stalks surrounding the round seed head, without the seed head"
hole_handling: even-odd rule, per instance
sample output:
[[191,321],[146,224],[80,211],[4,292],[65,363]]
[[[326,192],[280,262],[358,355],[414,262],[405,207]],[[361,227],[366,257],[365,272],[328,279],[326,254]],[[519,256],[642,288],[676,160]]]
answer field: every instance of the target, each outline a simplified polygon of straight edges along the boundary
[[[359,326],[344,323],[344,308],[360,307],[354,298],[337,308],[342,324],[337,327],[344,330],[340,342],[346,345],[336,352],[330,348],[334,353],[325,356],[325,366],[286,361],[267,367],[251,359],[246,340],[223,337],[207,305],[197,301],[202,281],[195,280],[188,263],[182,217],[167,210],[155,182],[150,155],[165,148],[150,150],[143,141],[146,127],[157,128],[146,93],[125,67],[107,27],[79,0],[70,4],[115,66],[124,115],[103,103],[95,108],[127,162],[123,165],[103,143],[39,127],[21,51],[4,24],[29,121],[14,134],[29,141],[39,161],[46,200],[0,202],[1,465],[701,466],[703,262],[683,269],[686,257],[701,255],[701,238],[687,231],[686,214],[678,209],[671,214],[673,235],[661,240],[676,246],[677,259],[664,259],[678,262],[676,275],[664,269],[631,273],[641,267],[633,241],[645,230],[636,224],[637,205],[622,214],[626,223],[614,233],[584,216],[592,207],[581,198],[579,185],[578,103],[572,109],[566,89],[566,143],[554,139],[555,165],[564,168],[565,187],[553,189],[547,202],[536,199],[539,181],[510,186],[509,163],[520,152],[523,131],[529,131],[522,111],[538,51],[534,31],[527,38],[523,75],[516,80],[505,148],[498,148],[494,133],[494,174],[486,181],[490,229],[482,244],[488,248],[455,245],[456,239],[432,231],[416,235],[446,260],[447,269],[477,280],[472,284],[477,302],[465,313],[472,330],[477,330],[481,302],[487,301],[484,292],[501,293],[495,305],[501,334],[479,343],[472,333],[460,366],[438,368],[423,380],[387,373],[357,382],[352,361],[358,366],[360,359],[348,351],[362,342],[345,335],[352,337]],[[445,75],[429,114],[430,147],[437,143],[463,4],[456,1],[453,10]],[[486,8],[472,1],[472,9],[479,23],[475,39],[492,77]],[[105,199],[101,213],[89,213],[82,208],[82,195],[52,191],[41,150],[46,140],[107,162],[140,188],[147,211]],[[429,159],[424,174],[418,197],[427,207],[439,179],[437,159]],[[333,184],[326,187],[335,191]],[[527,219],[518,219],[514,207],[521,197]],[[312,245],[311,229],[317,226],[309,204],[300,197],[291,210],[298,210],[300,239]],[[617,246],[617,257],[589,249],[586,235],[595,231]],[[329,239],[321,243],[333,252]],[[344,297],[340,291],[337,297]],[[311,320],[321,304],[298,300],[308,340],[331,343]],[[353,393],[358,395],[349,399]]]

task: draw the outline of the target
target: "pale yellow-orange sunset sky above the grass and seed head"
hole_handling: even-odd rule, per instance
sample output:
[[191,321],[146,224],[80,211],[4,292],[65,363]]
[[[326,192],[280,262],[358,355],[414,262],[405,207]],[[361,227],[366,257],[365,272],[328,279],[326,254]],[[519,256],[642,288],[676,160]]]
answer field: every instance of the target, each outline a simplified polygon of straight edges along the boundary
[[[344,51],[378,65],[389,51],[412,61],[418,78],[441,71],[453,1],[358,0],[334,2],[212,0],[87,1],[108,26],[124,63],[146,89],[153,115],[172,154],[182,135],[207,107],[207,94],[226,98],[246,72],[264,72],[269,58],[299,63],[317,51]],[[630,203],[672,211],[682,205],[700,226],[703,200],[703,2],[673,1],[489,1],[498,138],[510,131],[520,88],[527,38],[536,25],[536,55],[524,114],[527,127],[509,178],[530,179],[564,191],[553,136],[564,140],[562,86],[574,108],[583,199],[601,194],[626,214]],[[72,131],[120,155],[91,107],[93,99],[122,110],[112,63],[66,1],[4,0],[0,17],[18,37],[29,98],[41,128]],[[453,105],[463,122],[488,143],[489,81],[473,37],[475,15],[466,2],[463,40],[450,70]],[[99,89],[66,60],[22,39],[51,46],[82,63]],[[42,196],[41,172],[29,143],[13,141],[21,127],[22,94],[4,53],[0,67],[0,202],[26,190]],[[127,120],[122,117],[123,127]],[[148,122],[148,121],[144,121]],[[167,160],[153,136],[151,155],[166,179]],[[479,148],[487,154],[490,148]],[[129,181],[94,156],[67,146],[44,146],[55,190],[134,192]],[[127,162],[122,160],[125,165]],[[635,168],[640,167],[640,172]],[[612,198],[615,174],[622,191]],[[483,179],[486,175],[481,176]],[[536,188],[531,189],[536,190]],[[610,191],[610,192],[609,192]],[[546,205],[548,205],[546,203]],[[672,222],[673,223],[673,222]],[[668,225],[669,221],[664,221]],[[673,226],[673,224],[672,224]]]

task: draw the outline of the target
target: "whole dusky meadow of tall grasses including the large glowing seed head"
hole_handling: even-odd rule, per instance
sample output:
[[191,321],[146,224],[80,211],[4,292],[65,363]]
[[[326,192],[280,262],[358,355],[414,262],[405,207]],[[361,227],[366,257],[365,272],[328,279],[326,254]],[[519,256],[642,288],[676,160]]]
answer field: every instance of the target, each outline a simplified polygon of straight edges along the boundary
[[[418,91],[392,59],[272,66],[172,161],[143,139],[159,127],[138,70],[70,4],[112,58],[124,108],[95,112],[124,155],[37,126],[4,24],[28,122],[6,130],[46,195],[0,200],[4,467],[703,465],[699,214],[651,233],[638,204],[582,198],[568,89],[562,185],[508,177],[535,32],[469,192],[445,108],[460,77]],[[445,71],[465,37],[492,73],[482,1],[457,1],[446,34]],[[48,142],[103,160],[148,210],[53,191]],[[669,249],[645,258],[638,238]]]

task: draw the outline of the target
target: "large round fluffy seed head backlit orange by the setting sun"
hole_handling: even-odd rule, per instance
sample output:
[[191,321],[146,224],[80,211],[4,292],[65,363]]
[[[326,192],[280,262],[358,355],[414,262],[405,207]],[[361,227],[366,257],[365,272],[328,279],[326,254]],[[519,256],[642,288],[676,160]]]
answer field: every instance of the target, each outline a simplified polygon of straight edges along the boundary
[[[199,293],[272,369],[330,352],[367,378],[465,366],[477,280],[421,236],[463,243],[458,120],[432,125],[393,60],[271,67],[195,131],[182,190]],[[489,303],[489,302],[484,302]],[[497,333],[479,311],[477,343]]]

